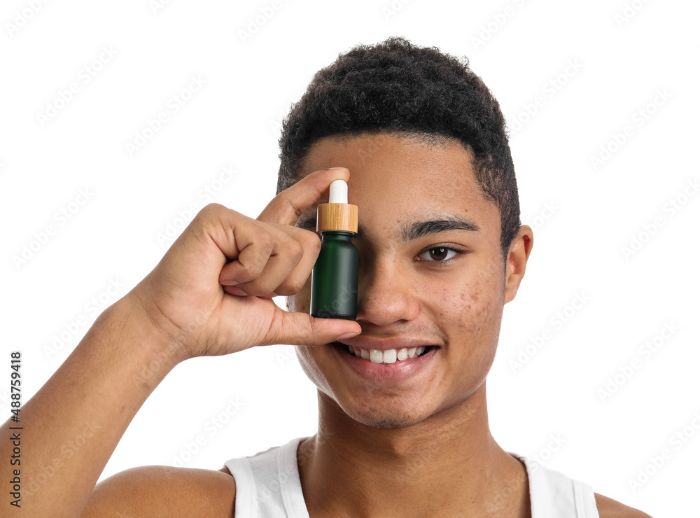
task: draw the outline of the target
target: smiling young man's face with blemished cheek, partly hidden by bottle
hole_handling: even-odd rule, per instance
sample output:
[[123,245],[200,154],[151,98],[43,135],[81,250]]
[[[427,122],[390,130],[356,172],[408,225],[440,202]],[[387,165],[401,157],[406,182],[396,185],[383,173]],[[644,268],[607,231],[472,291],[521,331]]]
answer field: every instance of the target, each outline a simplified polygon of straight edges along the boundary
[[[430,347],[420,358],[387,365],[337,343],[300,346],[297,355],[322,397],[356,421],[410,426],[468,399],[491,368],[505,302],[500,214],[456,141],[326,137],[311,148],[302,176],[328,167],[350,170],[348,201],[359,207],[353,244],[363,332],[343,342],[359,349]],[[429,223],[435,221],[459,223]],[[315,230],[315,205],[297,225]],[[308,313],[310,293],[309,276],[288,297],[288,309]]]

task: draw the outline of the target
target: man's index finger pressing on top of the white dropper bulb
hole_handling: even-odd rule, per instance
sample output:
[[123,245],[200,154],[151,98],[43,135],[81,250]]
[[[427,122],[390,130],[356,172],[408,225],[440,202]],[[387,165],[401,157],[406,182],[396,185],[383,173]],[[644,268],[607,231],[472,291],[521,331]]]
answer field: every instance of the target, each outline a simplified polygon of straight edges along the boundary
[[321,169],[309,173],[272,198],[257,219],[267,223],[294,225],[299,216],[328,191],[332,181],[349,179],[350,172],[346,167]]

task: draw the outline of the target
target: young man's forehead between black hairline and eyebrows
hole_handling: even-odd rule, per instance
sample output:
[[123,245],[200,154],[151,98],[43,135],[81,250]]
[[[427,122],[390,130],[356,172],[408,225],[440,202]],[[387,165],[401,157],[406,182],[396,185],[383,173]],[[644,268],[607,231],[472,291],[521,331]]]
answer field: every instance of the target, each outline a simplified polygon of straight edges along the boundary
[[[325,137],[311,146],[302,176],[328,167],[350,170],[348,201],[360,207],[365,222],[386,225],[428,218],[467,217],[486,230],[500,214],[475,179],[472,153],[459,141],[428,144],[416,137],[365,134]],[[328,201],[327,195],[318,203]],[[316,205],[299,225],[316,223]],[[490,229],[489,229],[490,230]]]

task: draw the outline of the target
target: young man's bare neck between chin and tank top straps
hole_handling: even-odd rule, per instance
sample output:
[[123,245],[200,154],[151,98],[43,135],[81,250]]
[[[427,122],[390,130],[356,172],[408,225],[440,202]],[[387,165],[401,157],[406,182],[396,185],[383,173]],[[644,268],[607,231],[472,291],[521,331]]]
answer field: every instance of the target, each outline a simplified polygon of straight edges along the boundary
[[491,436],[482,384],[406,428],[372,428],[318,393],[318,433],[297,451],[311,517],[529,517],[525,468]]

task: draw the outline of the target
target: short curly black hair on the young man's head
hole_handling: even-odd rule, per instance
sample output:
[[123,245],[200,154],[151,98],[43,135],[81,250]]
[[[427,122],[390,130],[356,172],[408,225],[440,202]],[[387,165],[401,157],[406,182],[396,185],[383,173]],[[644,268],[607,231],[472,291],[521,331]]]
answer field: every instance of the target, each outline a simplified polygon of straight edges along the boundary
[[520,204],[503,113],[468,59],[405,38],[357,45],[316,73],[283,121],[277,193],[298,180],[318,139],[381,132],[427,144],[456,139],[472,152],[477,183],[500,210],[505,259]]

